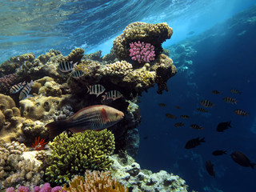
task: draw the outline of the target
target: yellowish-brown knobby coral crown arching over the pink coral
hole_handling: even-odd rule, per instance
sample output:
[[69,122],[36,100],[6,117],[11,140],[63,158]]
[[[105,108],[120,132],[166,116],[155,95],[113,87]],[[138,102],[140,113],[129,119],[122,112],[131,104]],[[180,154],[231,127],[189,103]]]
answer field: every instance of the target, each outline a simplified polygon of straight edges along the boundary
[[130,58],[131,42],[146,42],[155,47],[155,54],[162,51],[162,42],[173,34],[172,28],[166,22],[151,24],[146,22],[133,22],[126,26],[117,38],[114,39],[113,50],[119,60]]

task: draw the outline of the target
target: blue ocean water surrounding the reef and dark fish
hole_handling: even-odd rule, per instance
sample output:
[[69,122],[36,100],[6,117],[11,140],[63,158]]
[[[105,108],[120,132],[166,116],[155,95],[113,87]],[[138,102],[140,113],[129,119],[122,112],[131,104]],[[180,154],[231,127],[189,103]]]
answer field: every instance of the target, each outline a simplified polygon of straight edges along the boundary
[[[170,50],[178,74],[168,81],[168,92],[156,94],[155,87],[142,94],[139,103],[142,123],[138,126],[141,142],[136,161],[142,169],[178,174],[190,190],[255,191],[255,170],[239,166],[229,155],[211,154],[218,149],[227,150],[228,154],[241,150],[256,162],[256,42],[251,32],[232,36],[225,24],[215,26],[254,4],[253,0],[2,1],[0,62],[28,52],[38,56],[50,49],[66,55],[75,47],[84,48],[85,54],[96,50],[107,54],[114,38],[130,22],[167,22],[174,34],[163,47]],[[216,31],[207,32],[214,26],[218,28]],[[193,38],[197,35],[198,38]],[[197,43],[192,43],[191,48],[184,41]],[[173,57],[172,49],[178,44],[185,47],[189,44],[188,52],[194,51],[187,69],[179,66],[179,55]],[[231,89],[242,94],[234,96]],[[212,90],[220,90],[222,94],[211,94]],[[236,97],[238,105],[223,102],[226,96]],[[202,99],[216,104],[205,115],[195,110]],[[158,106],[160,102],[166,103],[166,107]],[[234,114],[236,107],[250,112],[250,117]],[[166,113],[187,114],[192,118],[182,120],[186,126],[177,128],[174,127],[177,120],[166,118]],[[215,131],[219,122],[228,121],[232,125],[229,130]],[[192,130],[191,123],[205,129]],[[188,140],[198,136],[205,137],[206,143],[193,150],[184,149]],[[209,159],[214,164],[215,178],[205,169]]]

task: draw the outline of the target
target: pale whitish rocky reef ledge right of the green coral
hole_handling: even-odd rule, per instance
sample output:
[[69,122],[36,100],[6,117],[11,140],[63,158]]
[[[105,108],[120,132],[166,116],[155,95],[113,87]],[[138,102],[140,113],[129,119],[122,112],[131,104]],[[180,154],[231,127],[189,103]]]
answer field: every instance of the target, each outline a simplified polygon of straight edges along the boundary
[[186,182],[182,178],[168,174],[165,170],[154,174],[150,170],[141,170],[140,165],[125,152],[114,154],[111,159],[114,161],[112,177],[128,186],[129,191],[187,191]]

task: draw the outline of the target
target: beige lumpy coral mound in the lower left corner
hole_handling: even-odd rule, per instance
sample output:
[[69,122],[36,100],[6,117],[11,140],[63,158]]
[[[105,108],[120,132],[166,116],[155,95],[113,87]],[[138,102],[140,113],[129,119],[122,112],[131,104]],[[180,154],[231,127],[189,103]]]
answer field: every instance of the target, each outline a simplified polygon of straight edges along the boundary
[[26,146],[18,142],[6,143],[0,149],[0,186],[3,188],[42,183],[43,171],[34,161],[22,156],[25,150]]

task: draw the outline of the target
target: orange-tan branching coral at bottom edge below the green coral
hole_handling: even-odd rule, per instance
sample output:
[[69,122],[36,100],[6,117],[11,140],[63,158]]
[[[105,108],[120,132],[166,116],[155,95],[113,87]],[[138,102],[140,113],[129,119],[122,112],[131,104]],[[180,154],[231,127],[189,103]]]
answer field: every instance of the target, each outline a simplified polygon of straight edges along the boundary
[[70,187],[62,187],[66,192],[126,192],[128,189],[122,186],[116,178],[112,178],[110,171],[100,172],[86,170],[86,179],[82,176],[75,176],[69,182]]

